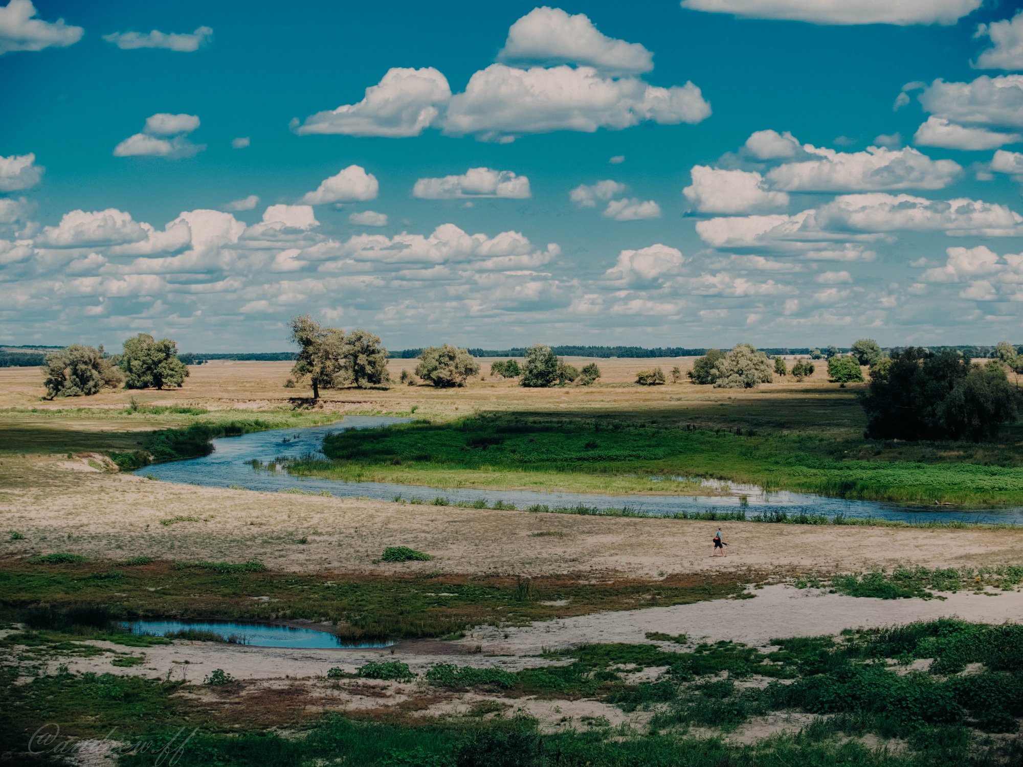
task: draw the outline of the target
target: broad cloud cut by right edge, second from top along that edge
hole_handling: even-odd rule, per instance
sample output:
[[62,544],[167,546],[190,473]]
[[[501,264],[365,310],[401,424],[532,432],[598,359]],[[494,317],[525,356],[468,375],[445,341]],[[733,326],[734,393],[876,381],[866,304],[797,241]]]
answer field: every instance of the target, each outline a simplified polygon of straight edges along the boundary
[[938,79],[920,94],[923,107],[962,125],[1023,128],[1023,75],[986,75],[972,83]]

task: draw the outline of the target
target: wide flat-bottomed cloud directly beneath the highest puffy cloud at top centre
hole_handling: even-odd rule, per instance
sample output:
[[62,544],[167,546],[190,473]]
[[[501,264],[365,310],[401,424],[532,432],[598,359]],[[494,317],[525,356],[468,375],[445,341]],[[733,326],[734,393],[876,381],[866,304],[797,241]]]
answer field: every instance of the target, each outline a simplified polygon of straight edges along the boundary
[[470,78],[448,105],[452,135],[510,140],[525,133],[621,130],[653,121],[699,123],[710,104],[693,83],[658,88],[635,78],[604,78],[591,66],[517,70],[495,63]]

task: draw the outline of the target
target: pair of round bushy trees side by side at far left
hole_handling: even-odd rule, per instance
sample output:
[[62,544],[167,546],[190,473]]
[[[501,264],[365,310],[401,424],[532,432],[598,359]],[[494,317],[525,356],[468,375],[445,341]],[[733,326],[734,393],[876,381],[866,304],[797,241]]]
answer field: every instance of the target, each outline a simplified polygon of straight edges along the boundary
[[119,355],[100,346],[73,344],[46,355],[43,366],[46,398],[87,397],[122,384],[125,389],[180,388],[188,366],[178,359],[178,345],[139,333],[124,343]]

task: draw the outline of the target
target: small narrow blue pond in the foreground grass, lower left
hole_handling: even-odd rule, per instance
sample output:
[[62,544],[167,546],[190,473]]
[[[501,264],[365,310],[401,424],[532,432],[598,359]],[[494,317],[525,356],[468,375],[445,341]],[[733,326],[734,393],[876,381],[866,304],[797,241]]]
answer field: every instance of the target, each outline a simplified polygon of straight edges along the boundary
[[177,631],[209,631],[225,641],[257,647],[294,647],[297,649],[330,649],[332,647],[387,647],[388,641],[350,641],[328,631],[295,628],[267,623],[232,621],[129,621],[124,627],[133,634],[165,636]]

